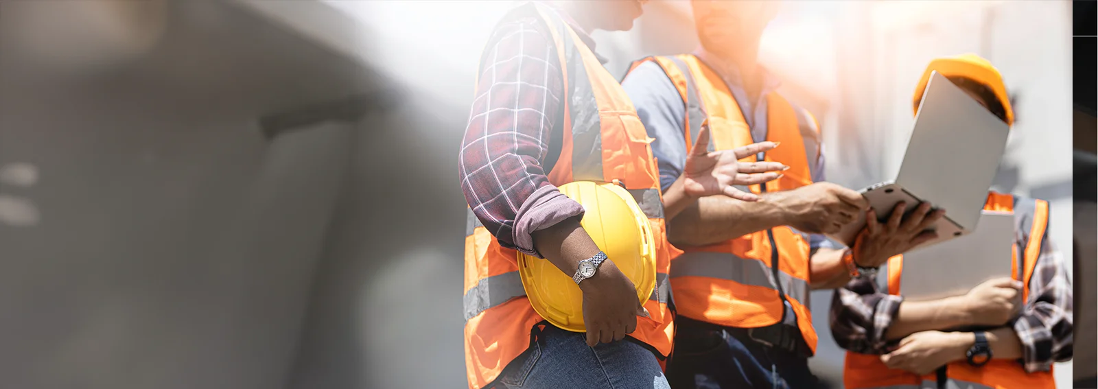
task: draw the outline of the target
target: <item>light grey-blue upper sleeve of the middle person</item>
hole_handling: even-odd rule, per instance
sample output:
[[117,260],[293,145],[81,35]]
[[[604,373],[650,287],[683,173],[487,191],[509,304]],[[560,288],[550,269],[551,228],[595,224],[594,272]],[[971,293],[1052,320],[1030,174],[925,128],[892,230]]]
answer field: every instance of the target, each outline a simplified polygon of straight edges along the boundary
[[652,142],[660,169],[660,189],[668,190],[686,164],[686,104],[663,68],[653,62],[637,66],[621,81]]

